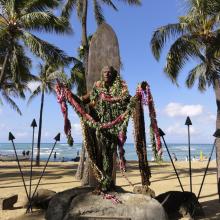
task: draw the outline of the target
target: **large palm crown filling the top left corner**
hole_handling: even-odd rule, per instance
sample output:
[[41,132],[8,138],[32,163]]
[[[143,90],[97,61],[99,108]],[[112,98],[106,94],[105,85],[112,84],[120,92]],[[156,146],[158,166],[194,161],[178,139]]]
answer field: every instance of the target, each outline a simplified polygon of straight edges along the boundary
[[58,0],[0,1],[0,85],[6,77],[7,66],[10,66],[10,74],[14,80],[21,74],[29,74],[30,59],[25,54],[25,48],[43,60],[53,60],[63,65],[69,62],[62,50],[32,33],[71,32],[67,19],[56,17],[51,12],[58,3]]

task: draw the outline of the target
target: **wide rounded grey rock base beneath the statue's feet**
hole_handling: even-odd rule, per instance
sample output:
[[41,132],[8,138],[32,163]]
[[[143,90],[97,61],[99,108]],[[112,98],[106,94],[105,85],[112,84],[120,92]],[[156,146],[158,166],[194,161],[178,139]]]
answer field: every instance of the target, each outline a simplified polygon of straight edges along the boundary
[[130,219],[165,220],[162,205],[149,196],[127,192],[112,192],[120,203],[94,195],[91,188],[75,188],[55,195],[50,201],[47,220]]

